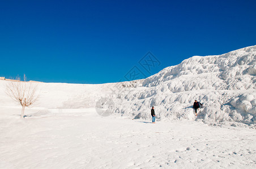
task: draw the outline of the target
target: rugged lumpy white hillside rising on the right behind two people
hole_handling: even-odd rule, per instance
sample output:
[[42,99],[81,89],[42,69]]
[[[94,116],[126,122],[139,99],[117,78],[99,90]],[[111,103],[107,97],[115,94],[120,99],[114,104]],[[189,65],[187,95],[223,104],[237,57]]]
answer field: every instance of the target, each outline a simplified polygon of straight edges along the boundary
[[[157,119],[190,119],[195,99],[204,104],[198,119],[206,123],[256,121],[256,46],[217,56],[193,56],[144,79],[142,87],[115,99],[122,114]],[[119,101],[118,101],[119,100]]]

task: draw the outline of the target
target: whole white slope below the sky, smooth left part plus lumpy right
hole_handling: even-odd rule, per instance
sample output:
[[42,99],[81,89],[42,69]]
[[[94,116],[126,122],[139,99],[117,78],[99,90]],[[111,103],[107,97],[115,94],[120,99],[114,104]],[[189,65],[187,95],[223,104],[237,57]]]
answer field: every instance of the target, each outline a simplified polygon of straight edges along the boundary
[[[157,120],[202,120],[228,125],[256,121],[256,46],[217,56],[193,56],[146,79],[107,84],[38,83],[44,109],[108,108],[131,118],[150,119],[155,106]],[[0,81],[0,109],[16,106],[5,94],[8,81]],[[197,118],[192,105],[204,107]],[[46,110],[45,110],[46,111]],[[5,113],[2,113],[5,114]]]

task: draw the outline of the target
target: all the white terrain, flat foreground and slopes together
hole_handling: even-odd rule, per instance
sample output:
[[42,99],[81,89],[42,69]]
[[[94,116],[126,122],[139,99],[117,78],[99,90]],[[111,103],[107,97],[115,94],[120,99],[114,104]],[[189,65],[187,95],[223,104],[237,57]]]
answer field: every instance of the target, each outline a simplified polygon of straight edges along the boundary
[[[0,168],[256,168],[256,46],[132,82],[33,83],[40,97],[24,120],[8,83],[0,81]],[[197,118],[195,99],[204,103]]]

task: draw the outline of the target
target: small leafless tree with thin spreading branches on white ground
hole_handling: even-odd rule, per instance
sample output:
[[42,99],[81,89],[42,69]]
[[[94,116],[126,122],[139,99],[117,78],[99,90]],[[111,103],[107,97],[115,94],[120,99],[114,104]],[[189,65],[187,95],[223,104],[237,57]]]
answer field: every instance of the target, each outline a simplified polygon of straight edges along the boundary
[[6,94],[22,105],[20,118],[24,118],[25,107],[34,104],[39,97],[36,94],[37,85],[32,82],[26,82],[26,79],[24,74],[24,82],[20,81],[19,77],[16,77],[16,81],[11,81],[6,86]]

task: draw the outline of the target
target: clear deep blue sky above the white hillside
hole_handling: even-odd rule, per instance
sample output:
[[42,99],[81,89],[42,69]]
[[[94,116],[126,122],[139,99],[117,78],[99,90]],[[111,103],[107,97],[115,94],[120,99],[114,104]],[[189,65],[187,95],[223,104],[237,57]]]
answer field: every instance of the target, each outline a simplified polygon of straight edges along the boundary
[[[255,7],[255,0],[1,0],[0,76],[106,83],[126,81],[135,68],[148,77],[194,55],[256,45]],[[148,51],[160,62],[149,72],[139,64]]]

